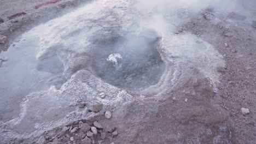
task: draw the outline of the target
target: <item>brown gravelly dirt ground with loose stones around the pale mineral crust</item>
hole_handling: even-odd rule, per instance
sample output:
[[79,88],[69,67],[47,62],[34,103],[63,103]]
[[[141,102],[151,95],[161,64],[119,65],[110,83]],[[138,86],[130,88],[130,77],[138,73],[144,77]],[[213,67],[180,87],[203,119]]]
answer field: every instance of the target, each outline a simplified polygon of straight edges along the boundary
[[[0,0],[0,17],[4,20],[0,35],[8,38],[0,45],[1,50],[7,50],[14,38],[32,26],[87,2],[65,0],[34,8],[47,1]],[[20,12],[26,15],[8,20],[8,16]],[[212,11],[202,11],[181,27],[177,35],[192,33],[223,56],[225,67],[216,69],[221,75],[218,91],[196,67],[184,64],[180,67],[187,73],[179,75],[172,88],[160,89],[157,94],[145,92],[143,99],[138,98],[139,93],[128,91],[134,98],[132,103],[103,108],[94,105],[89,112],[98,112],[96,116],[31,137],[6,137],[6,130],[1,130],[0,139],[4,143],[256,143],[256,28],[251,22]],[[88,73],[80,71],[77,75],[83,74]],[[242,107],[250,112],[243,115]],[[106,110],[112,113],[111,118],[107,118]]]

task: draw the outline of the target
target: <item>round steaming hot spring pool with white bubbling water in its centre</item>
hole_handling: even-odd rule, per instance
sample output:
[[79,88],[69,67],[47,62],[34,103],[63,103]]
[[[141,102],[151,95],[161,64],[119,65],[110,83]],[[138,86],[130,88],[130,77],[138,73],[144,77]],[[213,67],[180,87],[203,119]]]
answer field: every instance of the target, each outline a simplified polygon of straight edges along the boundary
[[158,83],[165,64],[153,31],[128,34],[101,44],[94,52],[95,73],[110,85],[132,91]]

